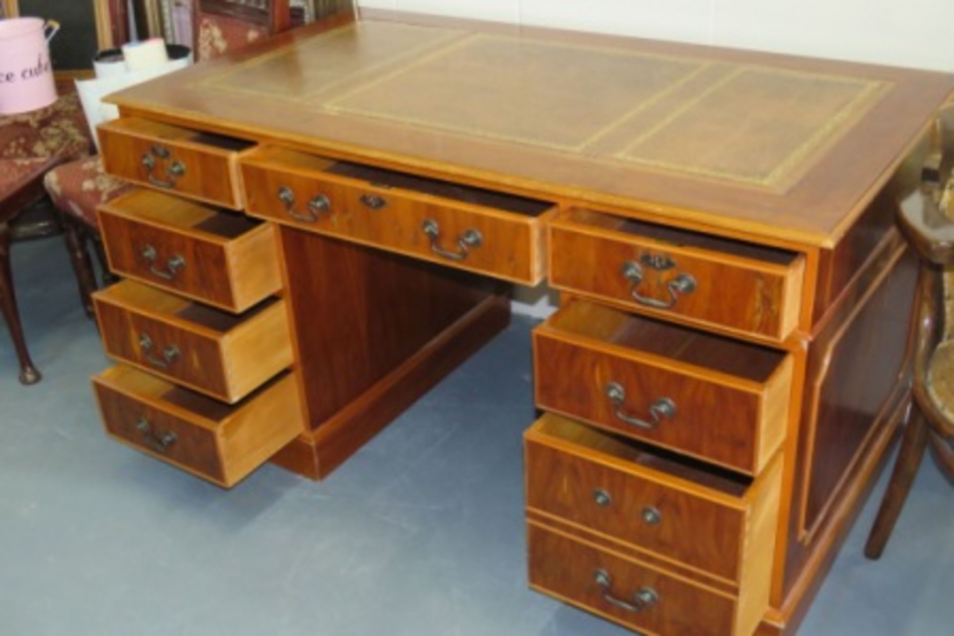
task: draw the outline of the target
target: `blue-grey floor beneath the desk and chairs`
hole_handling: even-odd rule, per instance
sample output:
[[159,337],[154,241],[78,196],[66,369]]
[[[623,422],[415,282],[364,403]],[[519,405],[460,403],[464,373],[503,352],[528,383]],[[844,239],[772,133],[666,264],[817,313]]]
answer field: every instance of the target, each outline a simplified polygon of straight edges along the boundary
[[[103,435],[103,369],[59,238],[13,251],[42,383],[0,333],[0,635],[632,633],[528,590],[526,318],[325,482],[266,465],[232,491]],[[800,633],[954,633],[954,489],[925,462],[880,563],[884,477]]]

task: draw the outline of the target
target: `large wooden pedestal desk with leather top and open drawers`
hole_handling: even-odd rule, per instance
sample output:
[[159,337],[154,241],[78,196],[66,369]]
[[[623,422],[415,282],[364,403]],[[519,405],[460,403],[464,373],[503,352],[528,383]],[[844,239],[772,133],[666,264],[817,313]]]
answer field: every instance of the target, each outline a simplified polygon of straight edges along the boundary
[[101,214],[149,286],[97,298],[107,427],[226,485],[319,477],[506,323],[492,279],[549,277],[531,585],[794,633],[909,401],[894,215],[952,88],[379,13],[119,93],[106,165],[150,189]]

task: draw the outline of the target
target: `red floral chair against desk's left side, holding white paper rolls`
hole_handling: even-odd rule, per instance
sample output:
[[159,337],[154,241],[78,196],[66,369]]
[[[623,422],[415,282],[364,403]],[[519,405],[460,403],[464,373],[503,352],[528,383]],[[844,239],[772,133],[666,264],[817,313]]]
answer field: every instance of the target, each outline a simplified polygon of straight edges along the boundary
[[[234,0],[194,0],[192,8],[197,61],[236,51],[293,24],[289,0],[270,0],[263,6]],[[103,258],[96,208],[126,192],[129,186],[106,174],[98,156],[56,168],[47,174],[45,186],[63,217],[80,299],[92,317],[92,294],[97,285],[89,245],[93,245],[103,265],[104,282],[112,281]]]

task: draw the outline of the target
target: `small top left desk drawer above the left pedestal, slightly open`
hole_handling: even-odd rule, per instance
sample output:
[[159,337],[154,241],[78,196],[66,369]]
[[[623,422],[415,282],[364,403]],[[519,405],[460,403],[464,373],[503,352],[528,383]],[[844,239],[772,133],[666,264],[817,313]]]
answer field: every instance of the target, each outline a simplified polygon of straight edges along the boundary
[[201,201],[242,207],[239,155],[255,144],[138,117],[99,126],[106,172]]

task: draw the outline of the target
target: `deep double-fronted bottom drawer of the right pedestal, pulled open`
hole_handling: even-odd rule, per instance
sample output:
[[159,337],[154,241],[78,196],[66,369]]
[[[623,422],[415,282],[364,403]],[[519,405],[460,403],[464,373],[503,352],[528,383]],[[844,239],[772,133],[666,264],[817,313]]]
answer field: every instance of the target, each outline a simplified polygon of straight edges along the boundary
[[[769,602],[780,456],[752,480],[551,414],[524,439],[531,585],[651,633],[751,636]],[[714,579],[695,585],[685,566]],[[641,612],[607,599],[642,588]]]

